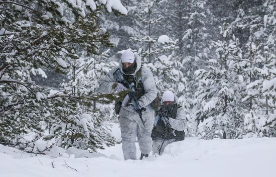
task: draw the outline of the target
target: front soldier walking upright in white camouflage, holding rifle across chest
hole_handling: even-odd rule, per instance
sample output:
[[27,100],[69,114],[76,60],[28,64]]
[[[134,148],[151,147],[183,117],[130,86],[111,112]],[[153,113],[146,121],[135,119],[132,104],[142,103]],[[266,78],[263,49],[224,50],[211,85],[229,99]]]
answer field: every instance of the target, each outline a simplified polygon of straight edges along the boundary
[[137,159],[137,137],[142,159],[152,151],[151,133],[155,111],[150,104],[156,99],[157,90],[152,71],[142,66],[140,56],[130,50],[122,53],[119,66],[111,69],[99,82],[99,90],[103,94],[120,93],[127,89],[130,91],[124,100],[115,102],[115,112],[119,114],[123,157],[125,160]]

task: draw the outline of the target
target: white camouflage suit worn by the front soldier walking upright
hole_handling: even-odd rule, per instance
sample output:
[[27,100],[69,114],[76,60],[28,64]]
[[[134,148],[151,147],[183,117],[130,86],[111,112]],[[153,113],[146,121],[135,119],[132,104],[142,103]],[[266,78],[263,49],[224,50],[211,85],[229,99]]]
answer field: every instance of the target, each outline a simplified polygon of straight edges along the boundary
[[[135,54],[135,61],[137,68],[131,75],[135,75],[136,72],[141,68],[142,62],[139,55]],[[122,64],[118,66],[122,73]],[[107,75],[99,81],[99,90],[103,94],[114,93],[112,85],[116,82],[113,73],[118,69],[115,67],[111,69]],[[136,158],[136,147],[135,139],[137,137],[140,150],[143,154],[149,154],[152,151],[152,138],[151,133],[153,129],[155,112],[150,106],[152,101],[157,96],[157,89],[151,70],[142,66],[142,82],[145,90],[145,94],[138,100],[138,104],[147,110],[143,112],[143,120],[146,121],[144,127],[139,115],[133,111],[132,105],[128,107],[121,107],[119,113],[119,123],[121,128],[122,136],[122,151],[124,159],[137,159]]]

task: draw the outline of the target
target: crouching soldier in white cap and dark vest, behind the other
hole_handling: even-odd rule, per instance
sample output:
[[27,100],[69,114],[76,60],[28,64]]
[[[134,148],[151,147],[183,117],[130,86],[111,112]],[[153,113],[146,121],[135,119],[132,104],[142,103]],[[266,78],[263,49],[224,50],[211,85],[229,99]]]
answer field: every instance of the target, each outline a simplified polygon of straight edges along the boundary
[[162,96],[162,102],[152,131],[153,154],[159,155],[168,144],[185,139],[184,129],[187,124],[184,110],[176,103],[173,92],[166,91]]

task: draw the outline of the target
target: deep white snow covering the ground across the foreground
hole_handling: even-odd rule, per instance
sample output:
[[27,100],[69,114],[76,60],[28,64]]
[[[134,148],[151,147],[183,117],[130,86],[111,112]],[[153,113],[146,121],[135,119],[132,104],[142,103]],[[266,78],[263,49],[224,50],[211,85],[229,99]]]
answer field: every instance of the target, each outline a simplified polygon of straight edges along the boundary
[[[118,137],[118,129],[114,131]],[[0,145],[0,176],[274,176],[275,149],[276,138],[186,138],[167,146],[161,156],[124,161],[121,144],[100,150],[89,158],[84,151],[74,149],[71,152],[76,154],[54,149],[49,155],[35,156]],[[51,157],[58,151],[61,153],[58,157]]]

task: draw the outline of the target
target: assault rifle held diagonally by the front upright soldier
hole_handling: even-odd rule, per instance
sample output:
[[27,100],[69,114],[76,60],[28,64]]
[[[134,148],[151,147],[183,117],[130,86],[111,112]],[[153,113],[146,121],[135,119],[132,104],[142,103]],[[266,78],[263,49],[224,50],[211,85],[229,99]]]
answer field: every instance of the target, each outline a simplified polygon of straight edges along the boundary
[[[124,80],[123,75],[120,71],[120,68],[118,68],[114,73],[113,73],[115,79],[117,82],[123,84],[124,86],[128,87],[130,89],[129,93],[127,94],[127,96],[129,97],[129,99],[131,99],[131,104],[133,106],[134,111],[139,114],[139,117],[144,125],[144,127],[146,128],[145,122],[142,118],[142,112],[146,111],[146,108],[139,108],[139,105],[137,103],[137,98],[136,98],[136,90],[135,90],[135,84],[133,82],[128,83],[126,80]],[[126,97],[127,97],[126,96]]]

